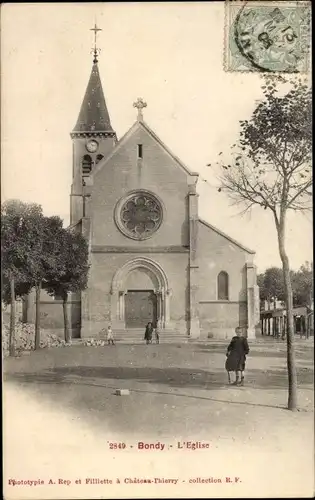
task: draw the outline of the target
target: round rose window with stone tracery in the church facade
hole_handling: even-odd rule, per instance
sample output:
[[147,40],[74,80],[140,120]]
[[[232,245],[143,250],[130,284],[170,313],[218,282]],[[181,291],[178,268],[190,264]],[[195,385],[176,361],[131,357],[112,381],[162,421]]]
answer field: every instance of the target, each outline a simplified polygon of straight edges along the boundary
[[161,222],[162,207],[148,193],[134,194],[121,206],[119,226],[131,238],[148,238],[160,227]]

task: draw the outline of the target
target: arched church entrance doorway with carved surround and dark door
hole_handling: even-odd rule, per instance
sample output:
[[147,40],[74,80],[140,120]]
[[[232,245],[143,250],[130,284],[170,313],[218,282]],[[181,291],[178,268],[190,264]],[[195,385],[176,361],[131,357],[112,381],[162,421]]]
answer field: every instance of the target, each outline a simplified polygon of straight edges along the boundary
[[170,290],[163,269],[151,259],[139,257],[127,262],[114,275],[111,321],[121,329],[143,328],[158,321],[169,325]]

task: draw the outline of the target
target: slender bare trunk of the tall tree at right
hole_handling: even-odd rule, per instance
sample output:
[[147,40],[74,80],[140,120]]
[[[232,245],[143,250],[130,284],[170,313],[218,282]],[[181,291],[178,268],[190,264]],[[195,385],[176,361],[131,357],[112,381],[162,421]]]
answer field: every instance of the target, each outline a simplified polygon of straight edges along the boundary
[[293,319],[293,294],[290,276],[289,259],[285,251],[285,231],[284,222],[279,225],[278,242],[279,252],[282,261],[284,290],[285,290],[285,303],[287,312],[287,367],[288,367],[288,382],[289,382],[289,397],[288,409],[297,409],[297,375],[295,365],[295,349],[294,349],[294,319]]

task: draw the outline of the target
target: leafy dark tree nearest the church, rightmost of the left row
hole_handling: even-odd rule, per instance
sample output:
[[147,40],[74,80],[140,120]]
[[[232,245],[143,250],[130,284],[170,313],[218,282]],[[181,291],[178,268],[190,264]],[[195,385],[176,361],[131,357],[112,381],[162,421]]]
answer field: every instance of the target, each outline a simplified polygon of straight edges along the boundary
[[44,287],[50,295],[62,297],[65,341],[70,341],[68,297],[87,286],[88,244],[85,238],[70,229],[60,229],[54,239],[54,259],[46,273]]

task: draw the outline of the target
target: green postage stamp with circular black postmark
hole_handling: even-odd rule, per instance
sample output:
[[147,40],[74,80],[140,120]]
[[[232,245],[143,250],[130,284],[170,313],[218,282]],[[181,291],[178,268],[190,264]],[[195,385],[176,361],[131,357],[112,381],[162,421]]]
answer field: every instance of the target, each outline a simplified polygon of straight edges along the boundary
[[310,2],[227,1],[227,71],[306,73]]

